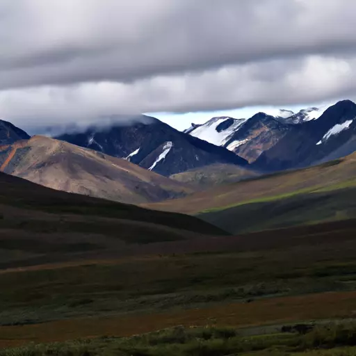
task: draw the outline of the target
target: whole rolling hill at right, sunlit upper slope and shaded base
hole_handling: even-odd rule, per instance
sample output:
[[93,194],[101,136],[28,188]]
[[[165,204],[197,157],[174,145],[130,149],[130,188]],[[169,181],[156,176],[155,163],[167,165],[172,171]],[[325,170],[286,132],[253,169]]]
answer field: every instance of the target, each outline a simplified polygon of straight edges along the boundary
[[355,218],[356,154],[227,184],[149,207],[200,214],[231,233]]

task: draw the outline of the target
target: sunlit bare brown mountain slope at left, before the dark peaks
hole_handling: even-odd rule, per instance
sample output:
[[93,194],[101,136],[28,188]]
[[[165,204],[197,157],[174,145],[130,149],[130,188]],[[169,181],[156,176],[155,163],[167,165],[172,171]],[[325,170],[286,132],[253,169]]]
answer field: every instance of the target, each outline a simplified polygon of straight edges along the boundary
[[43,136],[0,146],[0,171],[60,191],[131,204],[193,191],[127,160]]

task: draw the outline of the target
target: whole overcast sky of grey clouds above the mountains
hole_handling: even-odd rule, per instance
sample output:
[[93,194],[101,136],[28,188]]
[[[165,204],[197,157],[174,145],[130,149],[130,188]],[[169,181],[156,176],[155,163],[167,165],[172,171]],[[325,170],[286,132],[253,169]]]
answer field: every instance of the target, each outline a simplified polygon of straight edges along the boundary
[[185,127],[355,99],[355,14],[355,0],[0,0],[0,117],[40,131],[163,112]]

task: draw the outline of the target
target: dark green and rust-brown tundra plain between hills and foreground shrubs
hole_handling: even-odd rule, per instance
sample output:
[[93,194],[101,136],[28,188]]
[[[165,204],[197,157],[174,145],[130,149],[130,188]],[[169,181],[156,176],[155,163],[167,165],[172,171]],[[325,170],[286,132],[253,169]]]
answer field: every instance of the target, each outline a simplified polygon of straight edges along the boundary
[[0,270],[0,348],[175,325],[353,318],[356,225],[340,224],[211,238],[217,244],[200,252]]

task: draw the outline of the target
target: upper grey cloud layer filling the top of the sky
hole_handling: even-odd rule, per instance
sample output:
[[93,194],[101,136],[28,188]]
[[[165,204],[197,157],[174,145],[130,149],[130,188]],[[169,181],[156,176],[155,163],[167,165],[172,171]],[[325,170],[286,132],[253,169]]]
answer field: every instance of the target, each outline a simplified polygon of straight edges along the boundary
[[350,0],[3,0],[0,88],[356,51]]

